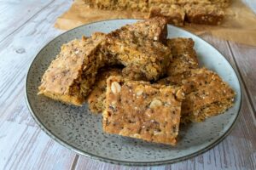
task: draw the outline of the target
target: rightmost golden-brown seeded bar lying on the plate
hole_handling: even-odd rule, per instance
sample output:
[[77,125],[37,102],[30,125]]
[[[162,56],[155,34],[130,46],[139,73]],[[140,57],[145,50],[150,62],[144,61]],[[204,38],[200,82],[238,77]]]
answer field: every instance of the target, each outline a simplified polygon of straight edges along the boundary
[[233,105],[236,93],[218,74],[206,68],[186,72],[183,77],[174,76],[159,82],[183,88],[182,122],[201,122],[216,116]]

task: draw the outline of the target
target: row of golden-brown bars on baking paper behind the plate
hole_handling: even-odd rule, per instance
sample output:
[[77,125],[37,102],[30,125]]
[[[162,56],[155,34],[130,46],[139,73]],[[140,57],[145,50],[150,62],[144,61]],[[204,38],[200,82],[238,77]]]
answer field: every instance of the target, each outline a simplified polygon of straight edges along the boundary
[[165,17],[169,24],[183,26],[184,22],[220,25],[224,8],[230,0],[84,0],[90,8],[127,10],[148,13],[149,18]]

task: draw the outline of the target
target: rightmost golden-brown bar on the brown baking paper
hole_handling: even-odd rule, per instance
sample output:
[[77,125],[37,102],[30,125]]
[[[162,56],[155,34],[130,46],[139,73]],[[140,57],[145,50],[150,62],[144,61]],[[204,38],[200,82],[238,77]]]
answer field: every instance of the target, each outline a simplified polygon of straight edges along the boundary
[[186,20],[190,23],[220,25],[224,20],[224,10],[214,4],[187,4],[184,8],[186,10]]

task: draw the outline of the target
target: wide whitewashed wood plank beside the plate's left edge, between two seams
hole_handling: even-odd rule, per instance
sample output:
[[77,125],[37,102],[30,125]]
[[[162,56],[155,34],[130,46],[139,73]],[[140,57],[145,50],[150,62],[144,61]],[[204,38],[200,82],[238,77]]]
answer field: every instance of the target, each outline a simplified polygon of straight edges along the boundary
[[0,43],[0,169],[73,166],[76,154],[50,139],[35,124],[24,96],[29,64],[46,42],[61,33],[53,27],[54,22],[70,4],[65,0],[50,3]]

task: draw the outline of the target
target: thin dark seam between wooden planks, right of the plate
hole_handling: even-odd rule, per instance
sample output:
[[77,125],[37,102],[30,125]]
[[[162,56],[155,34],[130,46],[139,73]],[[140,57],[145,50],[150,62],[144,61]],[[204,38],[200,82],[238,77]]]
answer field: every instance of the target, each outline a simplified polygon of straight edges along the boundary
[[247,94],[247,98],[248,98],[249,103],[250,103],[250,105],[251,105],[251,107],[253,109],[253,115],[256,116],[256,110],[254,108],[253,100],[251,98],[251,95],[249,94],[246,82],[244,81],[244,79],[243,79],[243,77],[241,75],[241,71],[238,69],[239,67],[237,65],[236,57],[234,56],[234,53],[233,53],[232,48],[230,46],[230,42],[229,41],[227,41],[227,42],[228,42],[228,46],[230,48],[230,54],[231,54],[231,56],[232,56],[232,58],[234,59],[234,62],[235,62],[235,65],[236,65],[236,68],[237,68],[237,72],[238,72],[239,76],[241,77],[241,83],[243,83],[243,86],[244,86],[244,89],[245,89],[245,93]]

